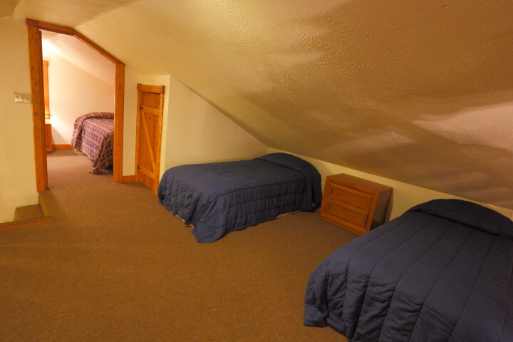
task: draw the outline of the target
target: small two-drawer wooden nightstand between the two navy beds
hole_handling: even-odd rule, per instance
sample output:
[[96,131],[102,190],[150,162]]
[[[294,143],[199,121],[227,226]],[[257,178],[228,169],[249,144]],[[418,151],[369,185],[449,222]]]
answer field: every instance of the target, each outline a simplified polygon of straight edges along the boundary
[[321,219],[356,234],[385,222],[392,188],[341,173],[326,177]]

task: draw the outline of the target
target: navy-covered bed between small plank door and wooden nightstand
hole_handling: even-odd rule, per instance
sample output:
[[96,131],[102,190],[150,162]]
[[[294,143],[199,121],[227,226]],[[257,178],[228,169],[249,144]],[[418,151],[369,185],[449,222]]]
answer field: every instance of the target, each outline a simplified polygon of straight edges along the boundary
[[321,175],[306,160],[286,153],[180,165],[162,175],[158,198],[192,224],[197,242],[214,242],[229,232],[321,204]]

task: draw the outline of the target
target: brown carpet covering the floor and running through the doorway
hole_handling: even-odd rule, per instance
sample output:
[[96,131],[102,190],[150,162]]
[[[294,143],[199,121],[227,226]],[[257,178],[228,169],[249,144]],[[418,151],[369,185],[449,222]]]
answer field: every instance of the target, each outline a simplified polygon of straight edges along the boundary
[[50,224],[0,232],[0,341],[346,341],[303,326],[306,281],[356,235],[288,217],[198,244],[142,185],[48,155]]

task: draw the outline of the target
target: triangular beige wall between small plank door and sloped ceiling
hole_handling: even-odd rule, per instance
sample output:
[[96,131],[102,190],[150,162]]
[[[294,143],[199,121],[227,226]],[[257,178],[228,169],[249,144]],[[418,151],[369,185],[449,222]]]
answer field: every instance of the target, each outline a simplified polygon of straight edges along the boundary
[[165,86],[161,176],[177,165],[246,159],[266,151],[266,145],[172,76],[144,75],[140,82]]

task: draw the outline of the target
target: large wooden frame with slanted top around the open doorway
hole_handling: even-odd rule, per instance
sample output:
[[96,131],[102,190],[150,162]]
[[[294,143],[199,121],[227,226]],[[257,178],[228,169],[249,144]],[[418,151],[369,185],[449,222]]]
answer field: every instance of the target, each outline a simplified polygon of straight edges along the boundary
[[30,66],[36,191],[48,187],[46,150],[44,146],[43,53],[41,30],[74,36],[115,63],[114,166],[113,181],[123,182],[123,119],[125,115],[125,63],[105,51],[75,28],[26,19],[28,30],[28,63]]

